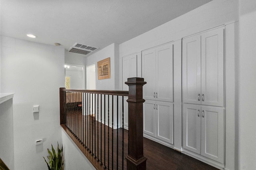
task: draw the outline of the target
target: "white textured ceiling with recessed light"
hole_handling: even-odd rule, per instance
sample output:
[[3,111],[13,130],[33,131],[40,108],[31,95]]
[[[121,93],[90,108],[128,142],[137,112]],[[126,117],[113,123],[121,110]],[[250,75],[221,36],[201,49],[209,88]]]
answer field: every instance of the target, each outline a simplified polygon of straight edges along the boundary
[[[1,35],[48,45],[123,43],[211,0],[1,0]],[[26,36],[37,36],[31,39]]]

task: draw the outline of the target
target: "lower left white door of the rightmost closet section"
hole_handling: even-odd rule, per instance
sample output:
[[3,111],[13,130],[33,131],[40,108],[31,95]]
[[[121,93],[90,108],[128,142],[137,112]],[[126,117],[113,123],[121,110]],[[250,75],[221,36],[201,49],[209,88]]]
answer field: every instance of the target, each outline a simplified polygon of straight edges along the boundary
[[182,112],[183,148],[200,154],[201,107],[184,104]]

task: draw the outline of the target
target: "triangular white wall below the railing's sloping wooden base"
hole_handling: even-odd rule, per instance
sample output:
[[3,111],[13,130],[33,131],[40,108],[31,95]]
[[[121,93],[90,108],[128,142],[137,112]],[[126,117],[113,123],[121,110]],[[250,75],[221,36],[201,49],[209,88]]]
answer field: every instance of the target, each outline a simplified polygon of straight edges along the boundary
[[95,170],[74,141],[62,130],[64,168],[65,170]]

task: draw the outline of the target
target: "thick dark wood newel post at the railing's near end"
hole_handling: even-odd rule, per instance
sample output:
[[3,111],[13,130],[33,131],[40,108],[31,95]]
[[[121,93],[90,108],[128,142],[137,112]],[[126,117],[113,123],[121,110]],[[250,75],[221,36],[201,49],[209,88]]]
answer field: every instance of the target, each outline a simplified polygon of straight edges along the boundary
[[146,170],[146,160],[143,154],[143,99],[142,86],[146,84],[144,78],[128,78],[125,82],[129,86],[129,151],[127,160],[128,170]]

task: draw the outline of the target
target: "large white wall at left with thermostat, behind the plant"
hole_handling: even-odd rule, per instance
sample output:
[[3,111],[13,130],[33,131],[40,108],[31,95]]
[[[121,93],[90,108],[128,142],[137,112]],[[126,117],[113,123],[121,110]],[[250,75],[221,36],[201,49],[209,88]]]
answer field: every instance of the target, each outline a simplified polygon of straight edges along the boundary
[[[14,92],[14,166],[17,170],[47,169],[51,143],[62,143],[59,88],[64,85],[64,49],[1,37],[2,92]],[[40,105],[39,113],[33,106]],[[43,144],[35,141],[43,139]]]

